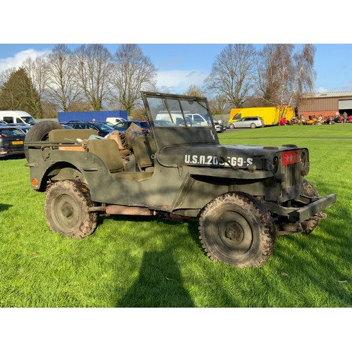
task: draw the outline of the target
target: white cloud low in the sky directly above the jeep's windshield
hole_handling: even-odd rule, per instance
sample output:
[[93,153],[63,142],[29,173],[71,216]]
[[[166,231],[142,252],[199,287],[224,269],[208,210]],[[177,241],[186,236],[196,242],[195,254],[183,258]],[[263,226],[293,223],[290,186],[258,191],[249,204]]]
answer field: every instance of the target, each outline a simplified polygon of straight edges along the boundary
[[168,70],[158,71],[158,89],[165,87],[172,93],[184,93],[191,84],[201,85],[208,76],[203,71]]

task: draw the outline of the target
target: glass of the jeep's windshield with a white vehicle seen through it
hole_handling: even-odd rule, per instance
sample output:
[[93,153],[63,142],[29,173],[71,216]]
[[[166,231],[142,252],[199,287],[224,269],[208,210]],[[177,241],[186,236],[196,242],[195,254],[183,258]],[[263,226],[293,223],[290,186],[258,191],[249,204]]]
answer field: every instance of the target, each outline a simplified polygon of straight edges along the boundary
[[211,127],[208,109],[199,101],[147,98],[155,127]]

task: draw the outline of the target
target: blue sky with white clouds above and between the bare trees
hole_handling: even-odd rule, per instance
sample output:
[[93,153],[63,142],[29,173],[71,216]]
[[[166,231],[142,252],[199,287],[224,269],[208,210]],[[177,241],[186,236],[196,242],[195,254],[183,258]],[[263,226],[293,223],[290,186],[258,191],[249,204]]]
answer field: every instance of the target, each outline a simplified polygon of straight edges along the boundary
[[[18,67],[27,56],[48,54],[55,44],[0,44],[0,71]],[[74,49],[78,44],[68,44]],[[104,44],[113,54],[119,44]],[[201,85],[227,44],[139,44],[158,69],[158,89],[184,93]],[[261,46],[263,44],[259,44]],[[352,91],[352,44],[314,44],[315,92]]]

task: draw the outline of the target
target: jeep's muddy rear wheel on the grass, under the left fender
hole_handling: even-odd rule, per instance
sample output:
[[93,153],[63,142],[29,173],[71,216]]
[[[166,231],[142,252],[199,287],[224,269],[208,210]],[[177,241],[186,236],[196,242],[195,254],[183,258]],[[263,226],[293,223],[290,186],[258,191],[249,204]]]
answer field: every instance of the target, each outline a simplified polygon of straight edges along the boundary
[[46,192],[45,216],[53,232],[81,239],[96,228],[96,213],[89,189],[79,181],[65,180],[54,183]]

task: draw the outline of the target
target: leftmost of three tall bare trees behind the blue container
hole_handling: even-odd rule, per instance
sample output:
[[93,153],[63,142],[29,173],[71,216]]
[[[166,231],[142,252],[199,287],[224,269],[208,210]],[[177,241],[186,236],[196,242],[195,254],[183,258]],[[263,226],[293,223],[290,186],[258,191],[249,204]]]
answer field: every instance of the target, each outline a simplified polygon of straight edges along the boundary
[[57,44],[47,57],[49,80],[46,87],[50,100],[58,105],[62,111],[70,111],[82,89],[75,73],[73,53],[65,44]]

